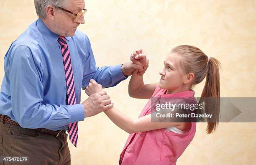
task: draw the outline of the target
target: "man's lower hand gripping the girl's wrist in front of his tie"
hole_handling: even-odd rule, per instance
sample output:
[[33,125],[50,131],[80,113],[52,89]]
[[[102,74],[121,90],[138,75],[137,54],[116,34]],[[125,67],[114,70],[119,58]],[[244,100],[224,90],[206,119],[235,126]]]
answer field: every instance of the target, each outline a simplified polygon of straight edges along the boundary
[[99,91],[89,96],[84,102],[84,116],[91,117],[114,106],[106,91]]

